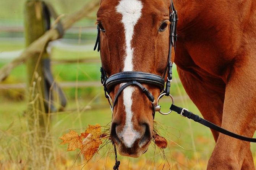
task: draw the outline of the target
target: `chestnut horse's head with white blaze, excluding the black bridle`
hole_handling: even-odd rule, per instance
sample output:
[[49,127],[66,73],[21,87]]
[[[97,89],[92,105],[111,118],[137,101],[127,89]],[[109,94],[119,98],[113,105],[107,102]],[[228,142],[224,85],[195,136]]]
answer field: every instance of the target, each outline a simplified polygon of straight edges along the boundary
[[[106,77],[136,71],[167,79],[170,6],[170,0],[101,0],[98,40]],[[154,135],[155,103],[142,89],[146,87],[154,99],[162,89],[142,82],[142,87],[131,84],[121,91],[123,85],[117,82],[108,91],[110,99],[116,99],[110,136],[121,155],[139,157]]]

